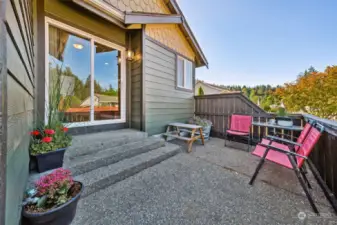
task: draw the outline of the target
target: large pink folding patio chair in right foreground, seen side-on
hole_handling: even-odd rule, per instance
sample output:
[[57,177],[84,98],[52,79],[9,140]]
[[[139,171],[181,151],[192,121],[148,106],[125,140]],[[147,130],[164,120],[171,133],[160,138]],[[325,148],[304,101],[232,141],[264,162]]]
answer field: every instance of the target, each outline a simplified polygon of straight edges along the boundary
[[[279,142],[271,141],[271,140],[262,140],[261,143],[259,143],[256,146],[256,149],[254,150],[255,155],[258,155],[261,157],[261,152],[263,153],[262,158],[259,162],[259,164],[256,167],[256,170],[249,181],[249,184],[252,185],[255,178],[257,177],[257,174],[259,170],[261,169],[265,159],[268,161],[274,162],[276,164],[279,164],[283,167],[289,168],[294,170],[308,200],[313,208],[314,212],[318,214],[318,209],[312,199],[311,194],[309,193],[308,187],[310,187],[308,179],[306,178],[305,173],[302,170],[304,162],[308,162],[314,176],[316,177],[319,185],[323,189],[326,197],[334,207],[336,211],[336,200],[333,197],[331,193],[328,193],[328,188],[322,178],[319,176],[317,170],[314,168],[312,162],[308,158],[311,151],[313,150],[315,144],[319,140],[321,134],[323,133],[324,127],[320,124],[316,124],[316,127],[313,126],[306,126],[304,131],[307,131],[308,133],[305,135],[305,137],[302,137],[303,140],[301,144],[293,142],[288,142],[289,145],[292,145],[293,147],[289,147],[287,145],[281,144]],[[302,133],[304,133],[304,131]],[[304,134],[303,134],[304,135]],[[295,146],[298,146],[297,151],[292,151],[291,149],[295,149]],[[295,149],[296,150],[296,149]],[[307,187],[308,185],[308,187]]]

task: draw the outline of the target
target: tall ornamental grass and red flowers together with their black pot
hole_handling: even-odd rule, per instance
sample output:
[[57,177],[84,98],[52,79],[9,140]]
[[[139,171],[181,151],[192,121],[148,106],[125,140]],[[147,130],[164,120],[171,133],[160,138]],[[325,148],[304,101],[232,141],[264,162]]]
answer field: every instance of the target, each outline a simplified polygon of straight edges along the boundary
[[[49,77],[49,99],[46,102],[47,120],[37,124],[31,132],[30,155],[33,169],[42,173],[62,167],[66,149],[71,145],[72,137],[68,134],[65,113],[72,105],[75,90],[71,77],[66,76],[67,68],[56,64],[55,71]],[[69,124],[69,123],[68,123]]]

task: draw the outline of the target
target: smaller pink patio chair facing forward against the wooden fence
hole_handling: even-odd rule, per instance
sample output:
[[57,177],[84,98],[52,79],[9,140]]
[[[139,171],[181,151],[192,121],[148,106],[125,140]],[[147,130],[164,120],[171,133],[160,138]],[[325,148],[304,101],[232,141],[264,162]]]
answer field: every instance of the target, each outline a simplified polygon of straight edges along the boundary
[[235,137],[244,137],[248,140],[248,150],[251,144],[250,128],[252,126],[252,116],[232,114],[229,122],[229,129],[225,130],[225,146],[226,141]]

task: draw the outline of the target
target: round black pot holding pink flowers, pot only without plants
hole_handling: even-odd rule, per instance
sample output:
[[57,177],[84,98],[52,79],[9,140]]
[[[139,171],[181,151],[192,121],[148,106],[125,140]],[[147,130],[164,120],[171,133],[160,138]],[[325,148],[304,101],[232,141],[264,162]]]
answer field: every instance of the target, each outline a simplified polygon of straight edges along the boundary
[[30,225],[70,225],[75,217],[77,203],[84,189],[81,182],[75,182],[81,184],[81,191],[67,203],[44,213],[28,213],[23,209],[22,216],[26,219],[26,223]]

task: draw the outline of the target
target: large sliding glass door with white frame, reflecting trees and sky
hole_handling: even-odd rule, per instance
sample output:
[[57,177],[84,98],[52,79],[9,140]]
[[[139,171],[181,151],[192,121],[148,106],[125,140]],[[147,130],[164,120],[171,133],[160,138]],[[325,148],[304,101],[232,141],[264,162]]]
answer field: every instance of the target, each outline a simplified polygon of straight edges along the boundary
[[46,120],[125,122],[124,48],[49,18],[46,28]]

